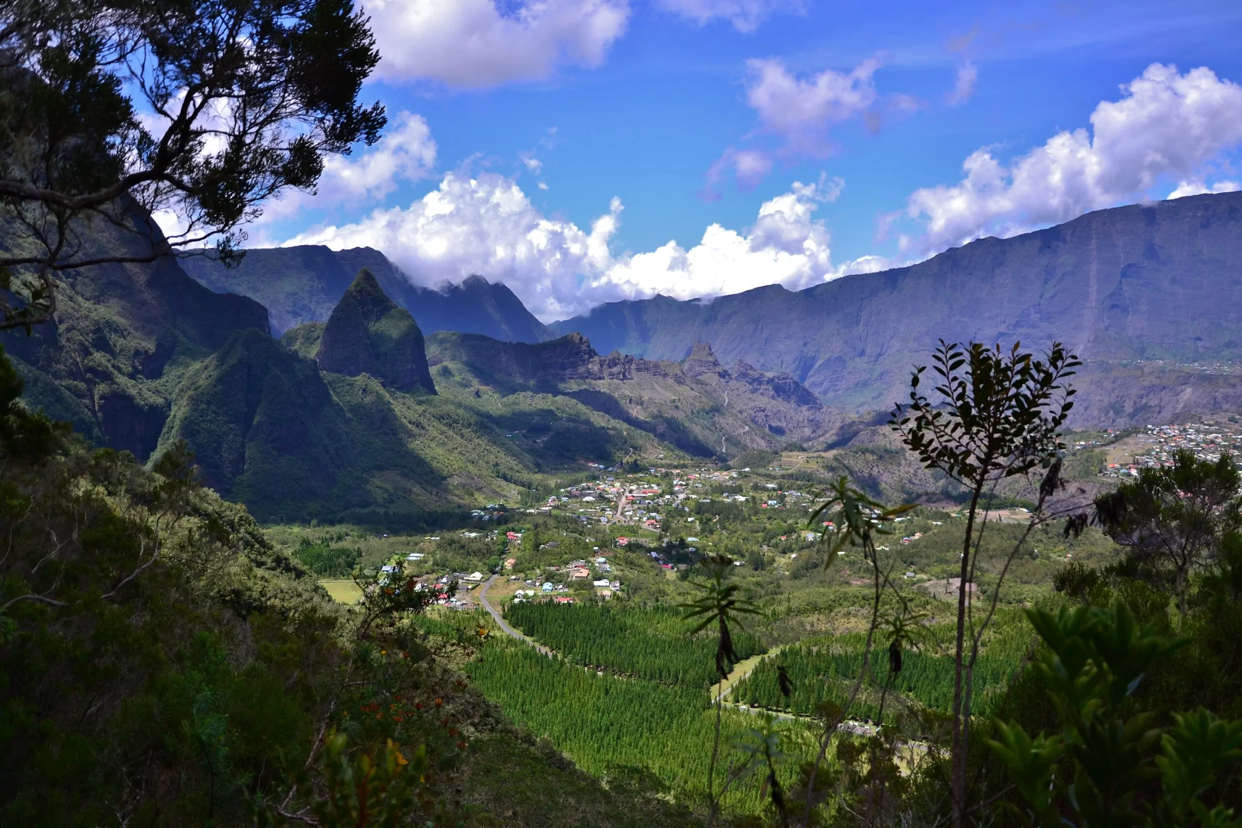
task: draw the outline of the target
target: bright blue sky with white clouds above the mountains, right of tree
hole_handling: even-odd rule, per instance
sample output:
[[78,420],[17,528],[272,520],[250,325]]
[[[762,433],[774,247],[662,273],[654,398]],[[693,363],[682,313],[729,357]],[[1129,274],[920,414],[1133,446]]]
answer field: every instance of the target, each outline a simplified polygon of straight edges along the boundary
[[1238,2],[365,9],[389,130],[252,242],[481,273],[545,320],[801,288],[1242,180]]

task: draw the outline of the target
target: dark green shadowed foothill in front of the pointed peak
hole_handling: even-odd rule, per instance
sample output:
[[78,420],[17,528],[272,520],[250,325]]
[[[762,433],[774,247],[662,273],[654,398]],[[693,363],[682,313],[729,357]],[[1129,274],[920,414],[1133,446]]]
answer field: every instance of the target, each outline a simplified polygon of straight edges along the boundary
[[469,412],[369,374],[328,374],[255,330],[188,372],[161,443],[175,439],[210,487],[261,520],[411,525],[515,497],[537,472]]

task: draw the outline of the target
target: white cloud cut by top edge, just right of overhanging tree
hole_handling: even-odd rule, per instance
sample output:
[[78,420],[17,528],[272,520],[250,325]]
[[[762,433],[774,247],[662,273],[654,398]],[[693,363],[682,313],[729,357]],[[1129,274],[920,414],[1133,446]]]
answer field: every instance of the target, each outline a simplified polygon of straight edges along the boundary
[[376,76],[453,87],[533,81],[599,66],[630,20],[628,0],[369,0]]

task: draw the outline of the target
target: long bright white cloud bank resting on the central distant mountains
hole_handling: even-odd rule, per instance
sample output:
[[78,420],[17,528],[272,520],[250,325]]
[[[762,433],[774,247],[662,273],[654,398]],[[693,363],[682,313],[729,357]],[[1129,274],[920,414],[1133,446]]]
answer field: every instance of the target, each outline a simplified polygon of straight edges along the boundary
[[884,262],[874,257],[832,263],[828,230],[814,212],[841,187],[840,179],[795,182],[760,206],[749,230],[713,223],[689,250],[671,241],[655,251],[614,254],[620,199],[581,228],[540,214],[509,178],[452,173],[409,207],[376,210],[356,223],[319,227],[284,243],[374,247],[427,286],[477,273],[504,282],[537,317],[551,322],[601,302],[656,293],[688,299],[773,283],[797,289],[881,269]]

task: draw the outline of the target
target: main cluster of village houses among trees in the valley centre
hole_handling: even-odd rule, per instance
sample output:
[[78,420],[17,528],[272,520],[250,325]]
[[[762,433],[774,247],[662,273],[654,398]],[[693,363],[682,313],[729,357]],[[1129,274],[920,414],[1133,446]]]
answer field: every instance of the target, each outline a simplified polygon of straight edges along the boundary
[[[814,508],[812,495],[786,489],[763,473],[773,470],[782,469],[777,466],[753,473],[750,468],[650,468],[646,473],[627,474],[600,467],[597,479],[560,487],[543,503],[528,508],[489,503],[474,509],[471,513],[474,525],[455,536],[441,533],[410,539],[419,551],[390,552],[380,567],[378,585],[414,580],[416,590],[437,592],[436,603],[448,610],[479,607],[484,588],[493,600],[518,603],[574,603],[586,595],[606,601],[625,590],[612,562],[619,554],[623,554],[628,569],[640,566],[664,577],[686,572],[700,556],[700,547],[705,552],[712,542],[700,541],[697,526],[704,523],[698,513],[713,503],[753,509],[759,515],[770,511],[781,519],[794,511],[787,518],[801,530],[785,531],[774,540],[814,545],[821,533],[805,528],[805,515]],[[710,518],[719,520],[718,515]],[[561,526],[573,521],[576,530],[561,529],[558,536],[532,531],[527,521],[539,519]],[[710,531],[708,528],[703,534]],[[441,569],[436,547],[446,538],[503,550],[499,565],[494,572]],[[769,552],[771,547],[764,544],[759,551]],[[575,554],[576,557],[566,557]],[[532,559],[549,562],[532,569],[527,566]],[[796,559],[797,552],[789,554],[790,561]],[[738,565],[741,564],[739,560]]]

